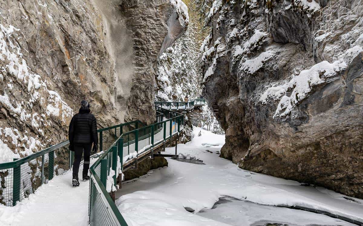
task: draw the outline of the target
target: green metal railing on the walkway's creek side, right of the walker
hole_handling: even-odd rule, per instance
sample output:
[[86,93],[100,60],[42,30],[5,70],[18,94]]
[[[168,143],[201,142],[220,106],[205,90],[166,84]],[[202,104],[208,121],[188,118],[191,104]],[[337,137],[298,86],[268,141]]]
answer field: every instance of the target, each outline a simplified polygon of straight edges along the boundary
[[[138,156],[145,155],[149,150],[152,157],[156,145],[166,142],[183,130],[183,114],[160,107],[156,107],[156,110],[156,123],[122,133],[90,167],[89,223],[91,226],[127,226],[109,195],[110,186],[113,185],[117,189],[117,177],[129,161],[136,159],[137,162]],[[165,120],[159,121],[160,119]],[[111,181],[107,179],[110,175],[113,175]]]

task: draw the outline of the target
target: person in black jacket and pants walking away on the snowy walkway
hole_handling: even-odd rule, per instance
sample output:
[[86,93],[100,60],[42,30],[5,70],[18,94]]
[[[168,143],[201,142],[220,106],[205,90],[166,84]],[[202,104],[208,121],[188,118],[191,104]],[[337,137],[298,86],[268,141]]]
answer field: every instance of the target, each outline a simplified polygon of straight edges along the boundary
[[97,122],[94,115],[90,114],[90,104],[82,100],[79,113],[74,115],[69,124],[69,149],[74,151],[73,178],[72,185],[79,186],[78,170],[81,163],[82,152],[84,153],[83,161],[83,181],[89,180],[88,170],[90,166],[91,147],[93,143],[93,152],[97,152],[98,136]]

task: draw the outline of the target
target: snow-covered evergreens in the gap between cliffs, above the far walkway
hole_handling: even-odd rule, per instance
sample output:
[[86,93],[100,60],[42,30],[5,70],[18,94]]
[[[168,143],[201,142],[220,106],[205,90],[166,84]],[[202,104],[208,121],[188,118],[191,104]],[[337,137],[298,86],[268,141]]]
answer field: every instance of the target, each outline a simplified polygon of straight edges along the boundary
[[201,62],[196,28],[190,22],[187,31],[158,61],[155,100],[182,101],[201,95]]

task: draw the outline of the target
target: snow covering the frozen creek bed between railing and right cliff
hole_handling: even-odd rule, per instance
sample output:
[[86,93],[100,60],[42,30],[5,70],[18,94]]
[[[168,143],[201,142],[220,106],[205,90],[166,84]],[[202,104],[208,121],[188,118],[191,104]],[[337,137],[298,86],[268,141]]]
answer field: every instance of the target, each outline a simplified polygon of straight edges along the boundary
[[[200,137],[197,136],[199,131],[202,133]],[[241,207],[241,213],[238,211],[238,214],[242,215],[243,211],[245,216],[235,215],[231,221],[226,220],[225,223],[233,224],[233,218],[246,217],[249,218],[248,221],[241,220],[240,225],[250,225],[248,222],[262,219],[273,221],[275,218],[291,224],[298,224],[301,220],[300,225],[305,225],[306,222],[350,225],[339,219],[302,210],[283,207],[272,210],[270,207],[274,205],[309,207],[363,221],[363,205],[358,203],[363,203],[363,200],[352,202],[344,199],[343,195],[324,188],[299,186],[301,184],[296,181],[241,170],[231,161],[219,158],[217,153],[224,144],[223,135],[215,135],[196,127],[194,133],[195,138],[191,142],[178,145],[178,153],[201,159],[205,165],[168,159],[168,167],[153,170],[151,176],[127,183],[118,191],[119,199],[116,204],[129,225],[224,225],[212,220],[222,221],[225,217],[221,215],[220,218],[216,215],[216,218],[207,219],[199,214],[189,213],[184,207],[195,212],[211,209],[219,198],[225,196],[271,205],[255,206],[254,210],[259,210],[257,213],[246,212]],[[219,146],[214,146],[216,144]],[[167,148],[166,152],[175,153],[175,148]],[[233,205],[247,205],[240,202]],[[228,204],[225,205],[228,209]],[[218,208],[215,212],[218,212]],[[207,213],[213,210],[203,211]],[[286,214],[276,216],[281,212]],[[228,214],[228,211],[223,213]]]

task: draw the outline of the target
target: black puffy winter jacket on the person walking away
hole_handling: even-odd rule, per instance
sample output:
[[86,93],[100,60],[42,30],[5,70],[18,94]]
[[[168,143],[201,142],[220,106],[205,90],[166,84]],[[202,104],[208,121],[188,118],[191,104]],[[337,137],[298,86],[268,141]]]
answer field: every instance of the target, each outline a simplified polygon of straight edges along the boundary
[[70,121],[68,139],[71,145],[74,143],[98,144],[97,122],[90,112],[89,108],[82,107]]

